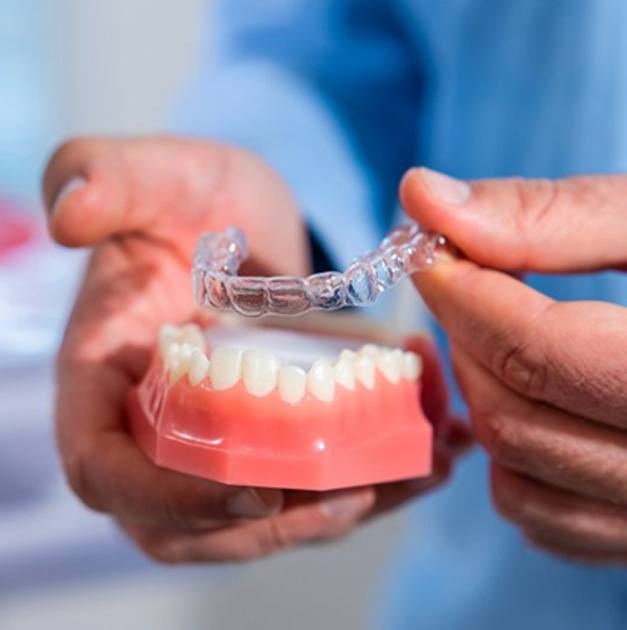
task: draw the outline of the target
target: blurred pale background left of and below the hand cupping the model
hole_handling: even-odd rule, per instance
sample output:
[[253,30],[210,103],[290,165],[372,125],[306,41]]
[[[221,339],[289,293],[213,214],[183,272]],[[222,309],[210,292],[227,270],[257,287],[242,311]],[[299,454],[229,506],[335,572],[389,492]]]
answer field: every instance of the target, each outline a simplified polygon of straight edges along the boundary
[[67,136],[167,130],[209,19],[201,0],[0,0],[0,630],[363,628],[402,528],[164,568],[64,485],[52,364],[86,253],[49,244],[42,169]]

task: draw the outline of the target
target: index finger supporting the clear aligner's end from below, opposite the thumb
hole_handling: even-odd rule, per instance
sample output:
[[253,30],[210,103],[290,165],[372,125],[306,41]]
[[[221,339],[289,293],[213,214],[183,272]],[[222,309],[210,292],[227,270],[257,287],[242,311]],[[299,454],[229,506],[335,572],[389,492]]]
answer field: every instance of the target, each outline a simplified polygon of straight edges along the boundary
[[512,390],[627,427],[627,309],[557,303],[506,274],[445,260],[414,282],[452,340]]

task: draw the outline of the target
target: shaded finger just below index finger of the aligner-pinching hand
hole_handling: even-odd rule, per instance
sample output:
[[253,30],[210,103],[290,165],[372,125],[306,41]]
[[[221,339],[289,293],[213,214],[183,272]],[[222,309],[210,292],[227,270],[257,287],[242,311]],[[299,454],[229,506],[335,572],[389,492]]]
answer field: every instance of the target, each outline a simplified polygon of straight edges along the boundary
[[502,466],[563,490],[627,505],[627,435],[515,394],[453,348],[477,440]]

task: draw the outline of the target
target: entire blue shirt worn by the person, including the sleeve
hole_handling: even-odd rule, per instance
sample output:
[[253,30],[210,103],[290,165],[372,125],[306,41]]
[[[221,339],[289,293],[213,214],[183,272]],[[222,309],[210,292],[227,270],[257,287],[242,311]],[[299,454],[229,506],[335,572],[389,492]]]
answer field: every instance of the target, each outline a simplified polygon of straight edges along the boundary
[[[285,177],[339,263],[393,219],[403,171],[461,178],[627,170],[624,0],[226,0],[177,128]],[[532,277],[627,305],[627,277]],[[526,546],[477,451],[412,509],[372,627],[627,628],[624,572]]]

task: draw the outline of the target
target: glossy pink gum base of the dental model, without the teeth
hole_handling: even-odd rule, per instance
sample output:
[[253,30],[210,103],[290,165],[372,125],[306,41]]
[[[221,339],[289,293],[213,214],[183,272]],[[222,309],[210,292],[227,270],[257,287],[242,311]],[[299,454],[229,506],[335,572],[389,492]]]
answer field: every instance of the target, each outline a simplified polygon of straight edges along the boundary
[[[355,322],[352,316],[336,315],[330,321],[326,315],[292,320],[289,328],[308,343],[339,339],[356,347],[390,341],[386,333]],[[285,328],[284,321],[279,325]],[[276,326],[264,320],[257,327],[259,338],[273,335],[270,330]],[[212,331],[219,330],[207,329],[202,350],[212,349]],[[253,395],[241,379],[216,389],[209,359],[199,358],[206,356],[200,349],[194,352],[201,365],[195,377],[190,368],[186,373],[179,370],[174,380],[172,366],[157,352],[131,395],[131,430],[157,465],[221,483],[302,490],[383,483],[431,472],[432,427],[420,406],[419,372],[397,377],[397,372],[375,369],[373,382],[336,384],[329,400],[306,388],[297,402],[287,402],[278,387]],[[381,356],[400,356],[400,350],[386,352]]]

